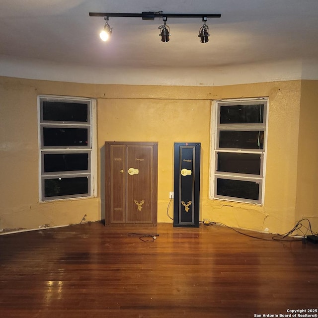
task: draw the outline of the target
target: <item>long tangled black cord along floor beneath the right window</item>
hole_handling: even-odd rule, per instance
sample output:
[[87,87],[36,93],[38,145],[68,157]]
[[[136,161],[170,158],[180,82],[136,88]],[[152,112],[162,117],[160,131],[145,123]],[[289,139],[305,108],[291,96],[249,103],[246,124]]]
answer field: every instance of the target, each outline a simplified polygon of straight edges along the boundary
[[[309,227],[308,227],[308,228],[305,227],[305,226],[301,223],[302,221],[308,221]],[[273,236],[271,239],[259,238],[259,237],[255,237],[255,236],[252,236],[252,235],[249,235],[249,234],[246,234],[246,233],[242,233],[242,232],[238,231],[237,229],[232,228],[232,227],[230,227],[230,226],[228,226],[228,225],[226,225],[226,224],[220,223],[220,222],[211,222],[211,221],[203,220],[202,223],[203,223],[205,226],[221,225],[221,226],[227,227],[227,228],[229,228],[229,229],[231,229],[231,230],[233,230],[233,231],[235,231],[235,232],[237,232],[237,233],[239,233],[239,234],[241,234],[241,235],[244,235],[244,236],[246,236],[246,237],[253,238],[253,239],[275,240],[275,241],[287,241],[287,242],[301,241],[301,240],[303,240],[304,238],[306,238],[306,235],[304,234],[304,232],[300,230],[302,227],[304,227],[305,229],[307,229],[308,231],[310,231],[310,232],[312,233],[312,235],[317,236],[317,233],[314,233],[314,232],[312,231],[312,227],[311,227],[310,221],[309,221],[308,219],[302,219],[302,220],[298,221],[297,224],[294,226],[294,228],[293,228],[292,230],[290,230],[289,232],[284,233],[284,234],[278,234],[278,235],[276,235],[276,236]],[[295,231],[297,231],[297,230],[301,231],[301,232],[304,234],[304,238],[294,238],[294,237],[293,237],[293,233],[294,233]],[[286,239],[288,236],[289,236],[289,237],[292,237],[292,239]]]

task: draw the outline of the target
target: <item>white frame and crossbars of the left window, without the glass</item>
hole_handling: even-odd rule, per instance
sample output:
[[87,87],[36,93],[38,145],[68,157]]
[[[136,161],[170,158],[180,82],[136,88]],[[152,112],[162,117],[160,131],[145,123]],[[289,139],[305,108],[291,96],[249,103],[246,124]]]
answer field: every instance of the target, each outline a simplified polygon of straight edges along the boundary
[[[70,123],[70,122],[55,122],[44,121],[42,115],[42,101],[55,102],[80,102],[88,105],[88,121],[87,123]],[[50,202],[56,200],[74,200],[82,198],[92,198],[97,195],[97,153],[96,153],[96,101],[91,98],[60,96],[60,95],[38,95],[38,143],[39,143],[39,202]],[[66,127],[66,128],[88,128],[88,145],[76,147],[54,146],[45,147],[43,144],[43,128],[45,127]],[[60,172],[44,172],[44,155],[45,154],[72,154],[72,153],[87,153],[88,168],[82,171],[60,171]],[[44,197],[44,180],[49,178],[59,177],[83,177],[88,178],[88,193],[65,195],[58,197]]]

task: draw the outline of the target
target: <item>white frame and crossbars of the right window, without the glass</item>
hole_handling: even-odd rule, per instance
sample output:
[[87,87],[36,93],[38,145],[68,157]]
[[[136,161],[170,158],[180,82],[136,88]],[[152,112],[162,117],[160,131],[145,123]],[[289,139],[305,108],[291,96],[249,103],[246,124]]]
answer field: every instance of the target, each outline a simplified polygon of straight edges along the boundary
[[[264,103],[263,123],[262,124],[220,124],[220,107],[238,104],[261,104]],[[267,131],[268,131],[268,111],[269,100],[267,97],[259,98],[239,98],[239,99],[224,99],[212,101],[211,107],[211,162],[210,162],[210,199],[225,200],[233,202],[251,203],[263,205],[265,199],[265,171],[266,171],[266,153],[267,153]],[[232,149],[219,147],[219,131],[221,130],[264,130],[263,149]],[[260,174],[242,174],[234,172],[217,171],[217,153],[244,153],[244,154],[259,154],[260,155]],[[230,180],[252,181],[259,183],[258,200],[237,198],[230,196],[222,196],[217,194],[217,178],[225,178]]]

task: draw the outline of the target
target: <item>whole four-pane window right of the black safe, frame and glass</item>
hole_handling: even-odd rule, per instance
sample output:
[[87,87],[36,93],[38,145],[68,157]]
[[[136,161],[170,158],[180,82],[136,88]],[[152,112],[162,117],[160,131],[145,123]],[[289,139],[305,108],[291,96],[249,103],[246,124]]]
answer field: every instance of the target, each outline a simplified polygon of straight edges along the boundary
[[267,111],[267,98],[214,103],[212,198],[263,204]]

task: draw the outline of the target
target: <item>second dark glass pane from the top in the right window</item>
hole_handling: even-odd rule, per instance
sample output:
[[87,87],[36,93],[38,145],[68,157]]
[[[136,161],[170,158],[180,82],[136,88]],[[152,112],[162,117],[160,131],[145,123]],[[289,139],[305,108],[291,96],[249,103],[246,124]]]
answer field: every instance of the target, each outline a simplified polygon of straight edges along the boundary
[[263,149],[264,131],[220,130],[219,147]]

